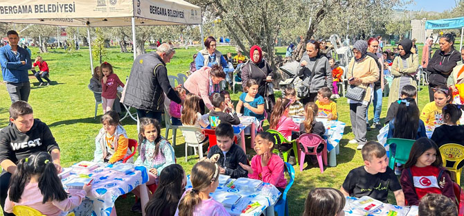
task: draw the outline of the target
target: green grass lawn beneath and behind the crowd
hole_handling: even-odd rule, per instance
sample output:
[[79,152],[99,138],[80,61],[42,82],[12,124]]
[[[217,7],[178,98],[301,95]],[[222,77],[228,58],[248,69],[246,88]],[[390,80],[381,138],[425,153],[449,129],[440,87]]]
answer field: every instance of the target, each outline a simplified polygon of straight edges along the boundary
[[[233,52],[233,46],[220,46],[218,49],[222,53]],[[421,49],[421,48],[420,48]],[[33,59],[39,55],[37,48],[32,48]],[[34,109],[35,118],[40,118],[46,123],[53,132],[53,136],[60,145],[62,155],[62,165],[69,166],[78,161],[92,160],[94,150],[94,138],[98,130],[102,127],[98,118],[102,115],[101,105],[98,108],[97,120],[93,119],[95,103],[93,93],[87,89],[89,79],[91,78],[91,69],[89,63],[89,51],[82,48],[73,55],[64,53],[63,50],[53,49],[50,53],[40,54],[50,67],[50,78],[55,84],[49,87],[39,87],[39,82],[31,78],[31,91],[29,103]],[[189,48],[177,49],[171,63],[168,64],[168,74],[177,75],[188,71],[189,64],[192,61],[192,55],[197,53],[197,49]],[[276,53],[285,55],[285,47],[277,48]],[[420,50],[420,53],[422,51]],[[118,48],[109,49],[108,57],[104,61],[114,66],[114,72],[125,80],[130,74],[132,67],[132,53],[119,53]],[[96,66],[98,62],[95,62]],[[235,104],[238,100],[239,93],[231,95]],[[383,98],[382,120],[386,116],[386,101]],[[427,87],[420,89],[419,108],[422,109],[428,102]],[[343,139],[340,141],[340,154],[337,156],[336,167],[326,167],[321,174],[317,165],[311,166],[299,171],[299,167],[294,166],[296,170],[296,180],[292,189],[290,189],[287,199],[289,200],[290,215],[301,215],[303,213],[304,201],[307,193],[312,188],[330,187],[340,188],[346,174],[353,168],[363,165],[361,152],[356,150],[357,145],[350,145],[348,141],[354,138],[351,131],[349,118],[349,106],[346,98],[337,100],[339,109],[339,120],[346,123]],[[0,84],[0,128],[8,124],[8,108],[10,107],[10,97],[6,91],[5,84]],[[369,116],[373,118],[372,106],[369,109]],[[267,122],[266,122],[267,125]],[[130,138],[137,137],[136,123],[130,118],[123,120],[123,126],[127,130]],[[268,126],[265,127],[267,129]],[[165,129],[161,129],[161,134],[165,135]],[[172,132],[170,132],[172,134]],[[373,129],[367,133],[368,140],[376,140],[378,131]],[[170,141],[171,135],[169,136]],[[177,145],[175,154],[177,162],[184,167],[184,170],[190,174],[190,170],[197,162],[198,156],[189,156],[188,162],[184,159],[184,138],[181,132],[177,132]],[[250,148],[249,138],[247,138],[247,154],[254,155]],[[394,203],[394,197],[389,196],[389,201]],[[133,195],[127,196],[127,199],[118,199],[116,201],[116,210],[119,215],[134,215],[130,207],[134,203]]]

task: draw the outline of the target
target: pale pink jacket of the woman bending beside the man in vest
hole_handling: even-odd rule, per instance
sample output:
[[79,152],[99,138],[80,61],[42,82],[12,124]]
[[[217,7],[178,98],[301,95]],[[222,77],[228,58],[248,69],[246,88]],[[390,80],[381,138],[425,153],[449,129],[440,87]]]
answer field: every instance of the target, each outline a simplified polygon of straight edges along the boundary
[[192,73],[186,82],[184,87],[193,94],[200,96],[203,99],[204,104],[209,110],[213,110],[214,107],[209,100],[209,72],[211,67],[204,66],[201,69]]

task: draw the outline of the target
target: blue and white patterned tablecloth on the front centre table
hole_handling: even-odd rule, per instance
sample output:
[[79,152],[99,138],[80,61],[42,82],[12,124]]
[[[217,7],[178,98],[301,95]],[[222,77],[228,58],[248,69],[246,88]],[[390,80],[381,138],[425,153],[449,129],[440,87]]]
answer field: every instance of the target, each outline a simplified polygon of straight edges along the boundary
[[[228,179],[224,185],[218,186],[215,192],[211,193],[211,195],[213,195],[216,192],[228,192],[242,196],[237,204],[233,205],[231,208],[224,206],[229,214],[259,216],[261,213],[265,213],[266,208],[269,208],[269,206],[272,206],[272,213],[274,213],[274,205],[277,203],[280,195],[282,194],[274,185],[270,183],[262,183],[262,185],[259,186],[256,190],[245,190],[239,189],[237,186],[234,188],[227,187],[227,184],[231,181],[235,181],[235,179]],[[186,189],[188,188],[192,188],[190,174],[187,176]],[[242,213],[244,207],[255,202],[258,202],[261,206],[249,213]]]

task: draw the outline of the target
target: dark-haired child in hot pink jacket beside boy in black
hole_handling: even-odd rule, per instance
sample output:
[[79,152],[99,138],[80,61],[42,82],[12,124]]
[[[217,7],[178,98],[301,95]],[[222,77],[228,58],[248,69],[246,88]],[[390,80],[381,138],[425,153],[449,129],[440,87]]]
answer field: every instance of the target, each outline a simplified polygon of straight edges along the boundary
[[280,192],[285,190],[287,179],[285,179],[284,166],[282,159],[277,154],[272,153],[275,145],[275,138],[269,132],[260,132],[255,138],[256,155],[251,159],[251,166],[239,163],[242,168],[248,171],[250,179],[259,179],[271,183]]

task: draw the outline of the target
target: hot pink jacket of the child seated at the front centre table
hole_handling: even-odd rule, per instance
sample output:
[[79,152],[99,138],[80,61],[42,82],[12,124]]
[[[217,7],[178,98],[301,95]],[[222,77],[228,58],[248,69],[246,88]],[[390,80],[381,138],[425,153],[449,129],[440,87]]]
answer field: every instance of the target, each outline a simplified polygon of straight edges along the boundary
[[271,183],[277,188],[285,188],[287,186],[287,179],[283,174],[283,163],[280,156],[277,154],[272,154],[271,159],[267,163],[267,166],[261,166],[261,156],[255,155],[251,159],[251,169],[253,169],[253,174],[248,174],[250,179],[259,179],[261,181]]

